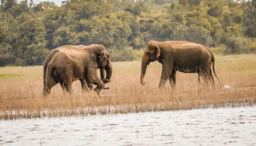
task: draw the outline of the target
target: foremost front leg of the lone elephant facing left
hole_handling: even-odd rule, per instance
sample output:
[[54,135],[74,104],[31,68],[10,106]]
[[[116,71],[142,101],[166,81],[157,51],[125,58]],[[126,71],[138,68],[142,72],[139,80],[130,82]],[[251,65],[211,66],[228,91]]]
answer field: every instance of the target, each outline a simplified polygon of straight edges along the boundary
[[165,83],[168,80],[169,76],[172,74],[173,65],[163,64],[161,79],[159,82],[159,88],[165,87]]

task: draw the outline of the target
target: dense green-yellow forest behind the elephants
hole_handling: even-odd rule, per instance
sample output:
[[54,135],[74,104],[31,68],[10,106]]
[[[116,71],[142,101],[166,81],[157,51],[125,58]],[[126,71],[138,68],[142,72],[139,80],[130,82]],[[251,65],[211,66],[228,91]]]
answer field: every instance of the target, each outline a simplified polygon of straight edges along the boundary
[[215,54],[256,52],[256,0],[1,0],[0,66],[42,65],[63,45],[104,45],[112,61],[149,40],[202,43]]

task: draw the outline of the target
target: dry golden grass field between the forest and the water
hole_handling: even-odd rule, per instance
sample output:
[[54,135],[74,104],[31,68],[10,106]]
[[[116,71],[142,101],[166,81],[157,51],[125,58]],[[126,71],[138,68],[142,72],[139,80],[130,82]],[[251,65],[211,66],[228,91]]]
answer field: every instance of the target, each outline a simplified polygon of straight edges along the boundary
[[[85,116],[192,108],[218,108],[256,104],[256,54],[215,57],[215,70],[222,85],[200,85],[197,74],[177,72],[176,88],[169,81],[159,89],[161,64],[150,63],[144,81],[139,82],[139,61],[113,62],[109,90],[100,96],[82,92],[79,81],[73,93],[63,93],[60,85],[42,96],[42,66],[0,68],[0,119]],[[223,88],[226,87],[226,88]],[[199,87],[199,89],[198,89]]]

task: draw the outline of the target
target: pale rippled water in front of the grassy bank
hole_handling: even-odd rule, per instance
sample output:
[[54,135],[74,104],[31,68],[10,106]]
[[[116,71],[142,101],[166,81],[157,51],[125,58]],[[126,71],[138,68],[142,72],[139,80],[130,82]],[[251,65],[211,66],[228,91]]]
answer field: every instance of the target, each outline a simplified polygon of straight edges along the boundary
[[256,145],[256,107],[0,121],[0,145]]

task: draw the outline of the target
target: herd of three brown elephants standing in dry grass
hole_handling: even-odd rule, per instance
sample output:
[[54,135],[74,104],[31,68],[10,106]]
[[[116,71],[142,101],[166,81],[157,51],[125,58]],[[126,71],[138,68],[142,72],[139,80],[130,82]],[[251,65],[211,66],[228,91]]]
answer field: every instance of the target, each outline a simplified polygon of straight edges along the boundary
[[[168,79],[170,84],[174,86],[177,71],[198,73],[199,83],[200,77],[202,77],[204,81],[210,80],[214,84],[212,70],[217,77],[214,69],[214,55],[210,49],[198,43],[149,41],[142,57],[140,77],[142,85],[145,85],[143,79],[147,65],[153,61],[162,64],[159,88],[164,87]],[[101,77],[97,75],[98,68]],[[103,45],[57,47],[49,53],[44,62],[43,93],[47,96],[50,89],[58,83],[60,83],[63,91],[71,92],[72,82],[80,80],[84,91],[92,90],[94,84],[97,87],[93,90],[99,94],[102,89],[109,89],[109,87],[105,87],[105,84],[110,82],[112,71],[110,55]]]

